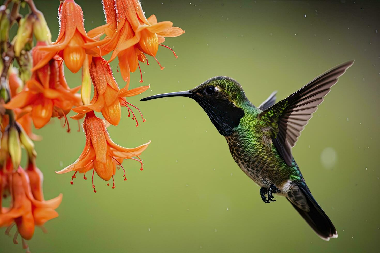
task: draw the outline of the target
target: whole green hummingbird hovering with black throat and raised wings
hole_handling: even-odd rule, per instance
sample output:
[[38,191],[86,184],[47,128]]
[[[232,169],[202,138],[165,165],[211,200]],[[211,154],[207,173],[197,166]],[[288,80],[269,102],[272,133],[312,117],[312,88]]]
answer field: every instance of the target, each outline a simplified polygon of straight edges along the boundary
[[141,99],[190,97],[207,113],[228,143],[235,162],[260,186],[264,203],[284,196],[324,240],[337,237],[329,217],[313,198],[291,148],[338,78],[354,63],[337,65],[275,103],[275,94],[255,107],[236,80],[217,76],[188,91],[158,94]]

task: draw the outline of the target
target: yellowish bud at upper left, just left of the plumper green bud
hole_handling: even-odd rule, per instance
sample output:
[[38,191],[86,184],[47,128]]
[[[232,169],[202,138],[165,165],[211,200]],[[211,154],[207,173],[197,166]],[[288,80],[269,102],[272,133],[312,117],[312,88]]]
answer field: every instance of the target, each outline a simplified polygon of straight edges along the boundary
[[16,40],[14,41],[14,55],[20,56],[21,50],[26,44],[33,42],[32,32],[33,23],[36,20],[36,16],[28,14],[20,20],[20,26],[17,30]]

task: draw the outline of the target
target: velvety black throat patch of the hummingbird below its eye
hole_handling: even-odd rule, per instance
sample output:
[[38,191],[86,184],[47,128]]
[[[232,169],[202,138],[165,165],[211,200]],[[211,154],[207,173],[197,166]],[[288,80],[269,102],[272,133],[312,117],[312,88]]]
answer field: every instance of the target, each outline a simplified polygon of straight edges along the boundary
[[224,136],[231,135],[234,127],[239,125],[240,119],[244,116],[244,110],[228,99],[207,99],[203,96],[191,96],[211,119],[212,124]]

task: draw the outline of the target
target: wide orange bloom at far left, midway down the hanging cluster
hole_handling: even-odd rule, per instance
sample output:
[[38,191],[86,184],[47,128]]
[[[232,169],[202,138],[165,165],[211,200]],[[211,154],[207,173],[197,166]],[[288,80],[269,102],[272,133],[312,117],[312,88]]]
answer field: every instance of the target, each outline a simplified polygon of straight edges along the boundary
[[[33,50],[32,53],[33,60],[43,57],[41,51]],[[33,124],[38,129],[46,125],[52,117],[66,119],[71,108],[81,104],[80,96],[76,94],[79,89],[80,86],[69,88],[63,74],[63,65],[52,60],[43,68],[33,72],[32,79],[27,81],[24,90],[4,107],[10,110],[22,108],[19,118],[31,112]]]

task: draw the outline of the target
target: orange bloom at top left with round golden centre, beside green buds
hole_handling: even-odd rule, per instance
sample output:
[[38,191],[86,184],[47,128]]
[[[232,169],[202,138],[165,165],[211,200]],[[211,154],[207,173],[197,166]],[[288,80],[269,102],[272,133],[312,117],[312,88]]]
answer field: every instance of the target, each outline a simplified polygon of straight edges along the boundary
[[83,11],[74,0],[65,0],[59,6],[60,30],[58,38],[52,45],[37,47],[46,53],[32,69],[42,68],[59,52],[62,52],[63,61],[71,72],[76,73],[81,69],[86,53],[97,55],[98,52],[90,48],[96,48],[109,39],[98,41],[90,38],[84,30]]

